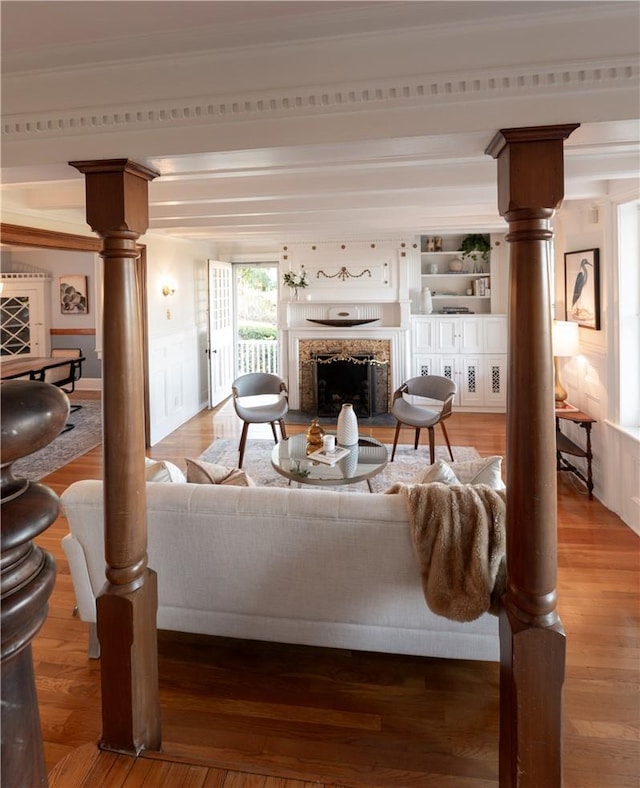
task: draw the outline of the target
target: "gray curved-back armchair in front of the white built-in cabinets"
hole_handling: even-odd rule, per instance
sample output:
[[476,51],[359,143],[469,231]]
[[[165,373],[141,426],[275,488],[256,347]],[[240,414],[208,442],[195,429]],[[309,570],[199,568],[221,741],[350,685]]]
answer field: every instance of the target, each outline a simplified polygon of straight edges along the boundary
[[[451,416],[453,398],[456,395],[456,384],[449,378],[439,375],[424,375],[422,377],[410,378],[405,381],[393,394],[391,403],[391,413],[396,417],[396,434],[393,439],[393,451],[391,452],[391,462],[396,454],[396,445],[400,436],[400,429],[403,424],[415,429],[414,449],[418,448],[420,441],[420,430],[429,430],[429,454],[431,465],[435,461],[435,433],[436,424],[440,424],[444,438],[449,449],[449,456],[453,462],[453,452],[449,443],[447,429],[444,426],[445,419]],[[405,397],[420,397],[424,404],[409,402]]]

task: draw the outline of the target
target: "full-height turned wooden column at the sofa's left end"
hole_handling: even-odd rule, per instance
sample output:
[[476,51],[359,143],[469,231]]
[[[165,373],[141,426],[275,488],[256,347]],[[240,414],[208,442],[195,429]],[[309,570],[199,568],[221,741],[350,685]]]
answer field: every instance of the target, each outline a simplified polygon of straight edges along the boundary
[[136,240],[149,224],[148,182],[126,159],[70,162],[85,174],[87,222],[102,239],[106,584],[97,600],[101,746],[160,749],[156,574],[147,566],[144,358]]

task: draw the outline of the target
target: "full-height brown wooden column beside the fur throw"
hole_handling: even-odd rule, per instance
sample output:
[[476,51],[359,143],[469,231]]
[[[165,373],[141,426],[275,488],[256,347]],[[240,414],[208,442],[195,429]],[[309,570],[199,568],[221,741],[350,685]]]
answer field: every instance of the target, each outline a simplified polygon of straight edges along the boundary
[[498,207],[509,223],[507,568],[500,615],[500,786],[562,784],[565,634],[556,611],[557,491],[549,220],[577,124],[500,131]]

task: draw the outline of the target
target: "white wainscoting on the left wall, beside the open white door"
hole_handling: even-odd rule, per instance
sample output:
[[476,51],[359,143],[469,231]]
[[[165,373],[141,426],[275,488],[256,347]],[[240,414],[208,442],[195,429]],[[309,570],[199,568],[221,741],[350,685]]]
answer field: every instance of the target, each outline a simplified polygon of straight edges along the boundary
[[201,410],[197,347],[195,326],[149,339],[152,446]]

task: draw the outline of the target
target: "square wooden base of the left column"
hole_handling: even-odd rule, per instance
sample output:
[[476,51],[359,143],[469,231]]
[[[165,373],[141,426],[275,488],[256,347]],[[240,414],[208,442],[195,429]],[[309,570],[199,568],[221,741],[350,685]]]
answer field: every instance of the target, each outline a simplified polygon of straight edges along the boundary
[[[156,573],[146,569],[142,583],[134,589],[107,586],[97,605],[102,659],[100,746],[135,754],[159,750]],[[113,682],[118,683],[118,692],[114,692]]]

